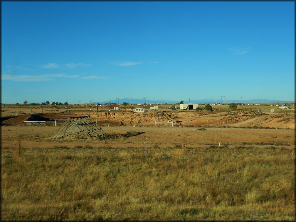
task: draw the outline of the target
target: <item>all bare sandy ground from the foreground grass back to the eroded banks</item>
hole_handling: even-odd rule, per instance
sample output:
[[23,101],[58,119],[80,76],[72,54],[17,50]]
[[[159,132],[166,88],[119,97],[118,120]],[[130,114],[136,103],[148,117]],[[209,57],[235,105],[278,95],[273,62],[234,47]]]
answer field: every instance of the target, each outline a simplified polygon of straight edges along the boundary
[[[90,115],[96,121],[96,110],[94,109],[39,109],[24,110],[25,114],[12,116],[16,113],[13,108],[4,107],[1,110],[1,147],[18,147],[21,141],[22,147],[54,147],[73,146],[73,141],[51,141],[49,139],[57,129],[65,123],[70,116]],[[33,115],[31,111],[35,112]],[[28,111],[30,113],[28,113]],[[41,110],[42,111],[42,110]],[[106,112],[107,111],[107,112]],[[38,113],[37,113],[38,112]],[[26,126],[24,121],[47,121],[47,126]],[[178,119],[169,123],[167,120]],[[55,121],[57,120],[57,121]],[[163,121],[157,123],[155,121]],[[106,123],[107,122],[107,123]],[[108,123],[109,126],[108,127]],[[55,126],[57,124],[57,126]],[[242,142],[268,142],[284,141],[285,146],[290,146],[295,141],[295,113],[253,112],[253,111],[159,111],[159,112],[109,112],[100,110],[98,113],[98,124],[108,134],[107,139],[79,141],[81,145],[102,147],[142,147],[158,144],[160,147],[185,144],[186,146],[200,146],[211,144],[240,145]],[[141,125],[141,127],[138,127]],[[222,128],[222,127],[226,128]],[[227,128],[227,127],[245,128]],[[257,126],[258,129],[250,127]],[[260,127],[274,129],[260,129]],[[249,127],[249,128],[247,128]],[[206,128],[207,130],[199,130]],[[277,128],[277,129],[276,129]],[[73,139],[74,140],[74,139]]]

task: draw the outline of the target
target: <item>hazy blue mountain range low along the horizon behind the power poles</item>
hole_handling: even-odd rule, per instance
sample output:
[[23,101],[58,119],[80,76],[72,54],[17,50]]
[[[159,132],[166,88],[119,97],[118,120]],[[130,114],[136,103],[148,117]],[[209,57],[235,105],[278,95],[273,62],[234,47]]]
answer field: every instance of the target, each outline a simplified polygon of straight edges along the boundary
[[[147,104],[153,104],[153,100],[151,99],[145,99],[143,101],[143,99],[133,99],[133,98],[124,98],[124,99],[119,99],[119,104],[122,104],[124,102],[126,103],[138,103],[138,104],[143,104],[147,102]],[[110,100],[110,101],[103,101],[103,102],[99,102],[100,104],[104,104],[104,103],[117,103],[118,101],[116,100]],[[155,103],[179,103],[180,101],[177,100],[155,100]],[[192,99],[190,100],[191,103],[221,103],[221,100],[219,99]],[[225,103],[240,103],[241,100],[231,100],[231,99],[225,99],[225,101],[222,100],[222,102]],[[276,100],[276,99],[245,99],[242,100],[242,103],[282,103],[282,102],[295,102],[295,101],[287,101],[287,100]],[[184,100],[184,103],[189,103],[188,100]]]

